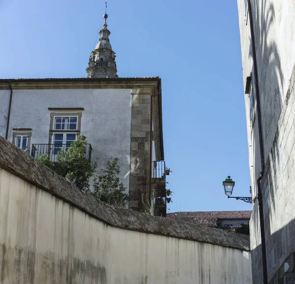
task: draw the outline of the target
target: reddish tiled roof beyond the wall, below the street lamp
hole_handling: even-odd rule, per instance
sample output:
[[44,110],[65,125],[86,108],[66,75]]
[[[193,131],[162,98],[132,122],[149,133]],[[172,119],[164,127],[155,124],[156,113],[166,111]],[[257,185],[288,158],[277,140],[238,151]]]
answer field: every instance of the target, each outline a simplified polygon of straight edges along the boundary
[[168,219],[193,223],[208,227],[217,227],[217,220],[250,219],[252,211],[196,211],[167,213]]

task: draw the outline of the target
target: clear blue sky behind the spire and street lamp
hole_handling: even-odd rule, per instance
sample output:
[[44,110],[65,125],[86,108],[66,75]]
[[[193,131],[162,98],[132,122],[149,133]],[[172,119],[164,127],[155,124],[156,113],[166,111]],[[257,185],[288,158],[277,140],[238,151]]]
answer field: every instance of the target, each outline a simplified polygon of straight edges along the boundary
[[[104,0],[0,0],[0,78],[85,77]],[[236,0],[109,0],[119,77],[160,76],[174,211],[251,210]]]

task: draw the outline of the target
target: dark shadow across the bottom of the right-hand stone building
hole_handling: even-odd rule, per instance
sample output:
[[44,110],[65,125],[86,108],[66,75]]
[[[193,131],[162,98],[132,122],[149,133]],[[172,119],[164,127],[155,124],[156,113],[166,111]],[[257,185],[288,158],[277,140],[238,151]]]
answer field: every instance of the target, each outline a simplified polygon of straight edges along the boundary
[[[258,213],[257,213],[258,215]],[[258,218],[258,216],[254,216]],[[254,220],[253,220],[254,221]],[[259,221],[259,220],[257,220]],[[254,223],[256,226],[256,223]],[[257,229],[255,227],[255,229]],[[271,234],[266,239],[268,284],[295,283],[295,220]],[[261,245],[251,251],[252,264],[257,272],[253,274],[253,284],[263,283]],[[254,262],[254,259],[255,262]]]

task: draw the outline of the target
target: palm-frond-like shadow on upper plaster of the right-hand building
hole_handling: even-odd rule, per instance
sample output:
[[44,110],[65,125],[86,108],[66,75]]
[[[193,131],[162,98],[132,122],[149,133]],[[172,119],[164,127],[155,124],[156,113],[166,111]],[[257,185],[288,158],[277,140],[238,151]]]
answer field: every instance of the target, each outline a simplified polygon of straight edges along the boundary
[[[258,82],[261,99],[262,112],[262,130],[264,140],[264,151],[266,165],[271,157],[273,169],[279,167],[280,155],[278,152],[278,129],[277,123],[282,111],[281,91],[284,87],[284,76],[281,68],[281,61],[278,54],[276,40],[270,39],[270,29],[275,21],[275,10],[273,3],[266,0],[251,1],[252,16],[255,33],[256,57],[258,66]],[[267,5],[266,5],[267,3]],[[273,33],[272,33],[273,34]],[[251,39],[250,39],[250,57],[252,56]],[[256,126],[257,128],[257,126]],[[258,130],[254,135],[254,145],[256,146],[255,160],[260,160]],[[270,143],[272,145],[270,146]],[[269,146],[268,146],[269,145]],[[271,154],[271,156],[269,155]],[[267,195],[266,188],[269,189],[267,199],[272,200],[273,210],[275,212],[274,190],[278,187],[277,179],[274,174],[271,175],[269,167],[265,171],[262,183],[263,195]],[[257,177],[259,172],[256,172]],[[266,182],[267,176],[267,182]],[[266,185],[268,184],[268,185]],[[265,198],[264,198],[265,199]],[[270,216],[271,218],[271,216]],[[268,224],[266,223],[266,226]]]

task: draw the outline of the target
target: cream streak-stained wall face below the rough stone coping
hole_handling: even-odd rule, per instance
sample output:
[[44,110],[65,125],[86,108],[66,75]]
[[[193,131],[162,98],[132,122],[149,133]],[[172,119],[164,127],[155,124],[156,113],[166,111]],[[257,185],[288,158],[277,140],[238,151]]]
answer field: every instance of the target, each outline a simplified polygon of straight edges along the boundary
[[252,283],[250,252],[109,226],[4,169],[0,226],[1,284]]

